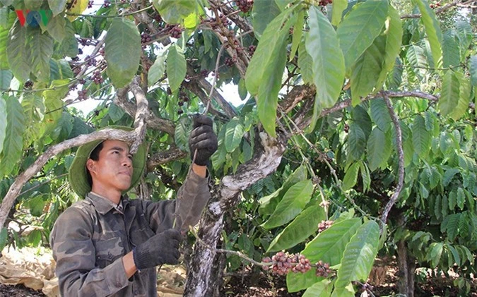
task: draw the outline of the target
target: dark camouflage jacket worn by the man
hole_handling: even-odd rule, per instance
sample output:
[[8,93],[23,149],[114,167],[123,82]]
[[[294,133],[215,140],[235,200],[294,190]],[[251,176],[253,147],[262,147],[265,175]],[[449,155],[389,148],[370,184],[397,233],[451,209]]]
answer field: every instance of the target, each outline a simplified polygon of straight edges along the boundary
[[61,296],[157,296],[155,267],[127,279],[122,257],[172,228],[175,217],[183,229],[199,222],[208,198],[208,178],[194,171],[179,188],[177,200],[122,197],[122,212],[88,193],[59,216],[50,235]]

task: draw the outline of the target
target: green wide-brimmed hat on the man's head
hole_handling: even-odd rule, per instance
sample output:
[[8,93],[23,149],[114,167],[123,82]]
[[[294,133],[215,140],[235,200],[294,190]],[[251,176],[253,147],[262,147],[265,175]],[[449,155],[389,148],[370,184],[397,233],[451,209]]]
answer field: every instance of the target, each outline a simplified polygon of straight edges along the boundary
[[[124,131],[132,131],[133,128],[125,127],[125,126],[107,126],[105,128],[114,128],[120,129]],[[102,129],[105,129],[102,128]],[[102,130],[101,129],[101,130]],[[100,143],[104,140],[95,140],[90,143],[86,143],[78,147],[76,151],[76,155],[71,163],[68,173],[68,181],[73,189],[73,191],[80,196],[80,198],[84,198],[86,194],[91,191],[91,185],[88,183],[88,174],[86,173],[86,161],[89,159],[91,152],[97,147]],[[141,175],[143,174],[144,168],[146,167],[146,144],[141,143],[139,145],[139,149],[133,156],[133,175],[131,176],[131,187],[127,189],[131,190],[134,186],[139,183],[141,179]]]

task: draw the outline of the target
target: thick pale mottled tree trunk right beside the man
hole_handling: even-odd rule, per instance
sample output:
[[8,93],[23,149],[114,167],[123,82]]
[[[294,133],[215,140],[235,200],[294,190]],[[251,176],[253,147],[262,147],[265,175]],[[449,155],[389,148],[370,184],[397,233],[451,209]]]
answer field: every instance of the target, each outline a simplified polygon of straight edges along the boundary
[[242,190],[269,176],[281,162],[286,147],[286,138],[282,133],[278,133],[277,138],[259,133],[256,139],[259,143],[256,144],[257,150],[252,160],[240,165],[236,174],[224,176],[220,184],[213,188],[211,201],[202,216],[198,232],[199,238],[207,246],[200,243],[194,246],[184,297],[218,296],[225,262],[220,260],[220,255],[214,248],[220,242],[224,214],[237,205]]

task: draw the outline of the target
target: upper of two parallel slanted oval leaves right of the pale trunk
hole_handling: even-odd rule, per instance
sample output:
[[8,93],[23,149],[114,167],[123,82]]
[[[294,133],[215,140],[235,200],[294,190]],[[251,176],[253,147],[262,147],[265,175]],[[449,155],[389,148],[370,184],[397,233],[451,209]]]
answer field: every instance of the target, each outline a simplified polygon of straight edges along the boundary
[[305,208],[312,197],[312,193],[313,183],[311,180],[307,179],[295,183],[288,189],[283,199],[278,202],[273,214],[261,226],[265,229],[272,229],[290,222]]

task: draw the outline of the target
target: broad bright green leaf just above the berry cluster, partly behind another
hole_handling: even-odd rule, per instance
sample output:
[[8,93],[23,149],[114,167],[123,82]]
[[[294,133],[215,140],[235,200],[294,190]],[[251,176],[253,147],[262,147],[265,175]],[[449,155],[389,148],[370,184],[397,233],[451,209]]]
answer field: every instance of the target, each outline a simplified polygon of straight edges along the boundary
[[307,243],[305,249],[302,250],[302,255],[305,255],[312,263],[322,260],[329,263],[330,266],[339,264],[346,245],[355,235],[359,226],[361,226],[361,219],[358,218],[345,219],[332,224],[310,243]]

